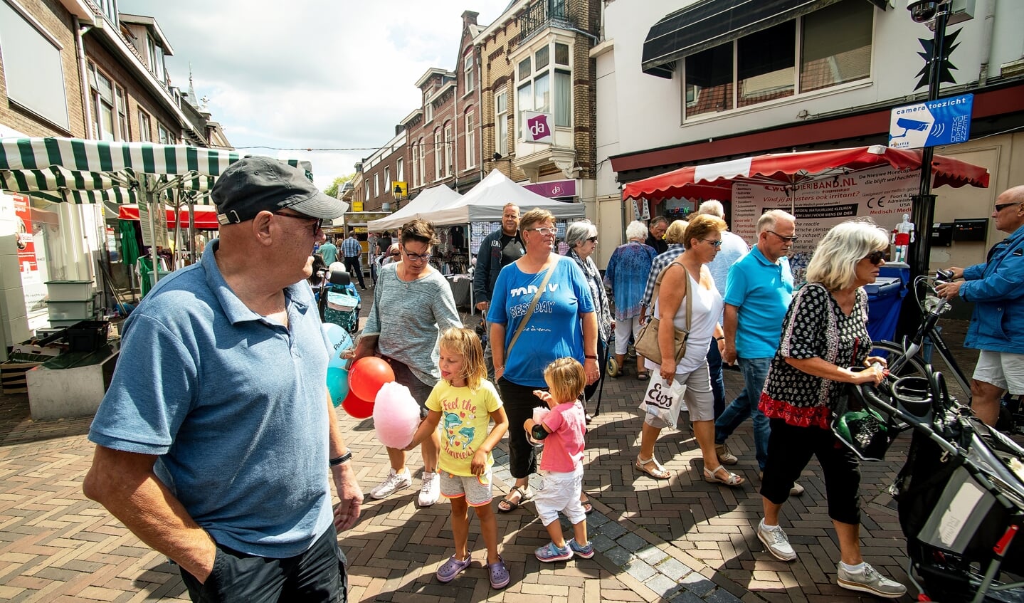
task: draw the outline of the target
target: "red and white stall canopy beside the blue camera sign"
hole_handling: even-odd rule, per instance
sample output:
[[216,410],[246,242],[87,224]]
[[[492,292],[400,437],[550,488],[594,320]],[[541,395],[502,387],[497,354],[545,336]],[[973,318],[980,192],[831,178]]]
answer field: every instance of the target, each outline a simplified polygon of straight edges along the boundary
[[[896,170],[921,169],[921,152],[883,145],[768,154],[678,170],[630,182],[624,199],[715,199],[732,200],[735,182],[791,186],[841,177],[854,172],[891,166]],[[932,160],[934,186],[988,186],[988,170],[949,157]]]

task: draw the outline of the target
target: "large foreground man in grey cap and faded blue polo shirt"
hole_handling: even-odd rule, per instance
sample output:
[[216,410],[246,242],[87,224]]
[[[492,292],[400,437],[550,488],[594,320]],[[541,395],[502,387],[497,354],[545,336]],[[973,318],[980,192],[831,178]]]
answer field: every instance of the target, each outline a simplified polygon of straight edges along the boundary
[[220,238],[125,322],[83,490],[177,563],[194,601],[343,601],[337,531],[362,491],[306,278],[345,205],[270,158],[231,165],[212,196]]

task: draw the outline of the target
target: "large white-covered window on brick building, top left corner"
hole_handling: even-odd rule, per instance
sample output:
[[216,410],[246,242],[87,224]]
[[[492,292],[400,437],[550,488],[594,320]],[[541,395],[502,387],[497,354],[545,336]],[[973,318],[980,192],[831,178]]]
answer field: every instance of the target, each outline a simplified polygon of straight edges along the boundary
[[7,99],[70,131],[60,51],[57,39],[25,8],[0,0],[0,54]]

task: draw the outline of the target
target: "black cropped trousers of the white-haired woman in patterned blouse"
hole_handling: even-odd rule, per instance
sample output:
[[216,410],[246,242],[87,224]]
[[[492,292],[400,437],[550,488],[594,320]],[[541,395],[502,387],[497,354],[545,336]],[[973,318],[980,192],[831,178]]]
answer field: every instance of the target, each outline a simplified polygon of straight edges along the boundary
[[797,427],[771,419],[768,461],[761,496],[776,505],[790,498],[800,472],[817,457],[825,480],[828,517],[841,523],[860,523],[860,463],[836,434],[820,427]]

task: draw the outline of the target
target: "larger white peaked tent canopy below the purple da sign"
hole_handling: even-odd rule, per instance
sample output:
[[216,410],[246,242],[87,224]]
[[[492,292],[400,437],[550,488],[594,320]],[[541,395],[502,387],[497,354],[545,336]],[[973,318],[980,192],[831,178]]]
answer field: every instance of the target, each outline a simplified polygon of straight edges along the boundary
[[523,212],[534,208],[546,209],[558,220],[584,217],[582,203],[565,203],[527,190],[509,180],[499,170],[492,170],[487,177],[446,208],[435,211],[430,219],[438,226],[467,222],[500,222],[505,205],[514,203]]

